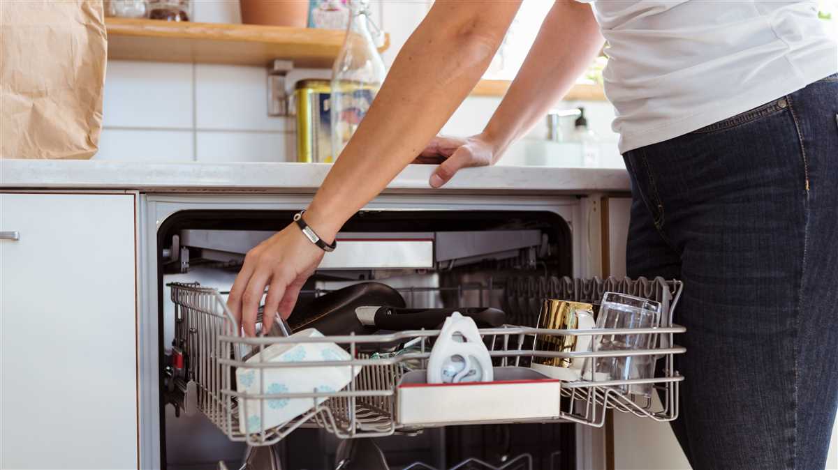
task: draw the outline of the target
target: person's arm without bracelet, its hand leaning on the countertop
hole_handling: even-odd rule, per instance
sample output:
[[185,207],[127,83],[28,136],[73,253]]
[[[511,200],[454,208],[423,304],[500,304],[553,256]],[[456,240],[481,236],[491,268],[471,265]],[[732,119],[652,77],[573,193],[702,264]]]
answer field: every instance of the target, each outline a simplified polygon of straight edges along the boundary
[[484,131],[468,139],[439,137],[422,152],[447,157],[431,176],[431,186],[442,186],[460,168],[494,165],[571,89],[603,42],[589,5],[556,0]]

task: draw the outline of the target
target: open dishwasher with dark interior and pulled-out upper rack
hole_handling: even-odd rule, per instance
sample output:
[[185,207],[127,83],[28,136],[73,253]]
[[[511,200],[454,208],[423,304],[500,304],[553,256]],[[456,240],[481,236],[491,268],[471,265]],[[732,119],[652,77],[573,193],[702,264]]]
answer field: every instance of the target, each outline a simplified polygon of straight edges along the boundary
[[[504,325],[481,329],[480,335],[493,365],[525,368],[535,357],[556,355],[540,352],[536,336],[597,332],[536,329],[542,299],[598,304],[607,291],[645,297],[663,304],[665,314],[647,333],[654,335],[654,347],[644,353],[657,358],[658,373],[639,382],[651,383],[660,400],[621,393],[618,386],[631,384],[619,381],[561,382],[551,389],[555,396],[545,396],[556,401],[550,416],[498,419],[489,413],[481,419],[478,413],[466,420],[455,416],[423,421],[422,410],[408,412],[413,401],[404,401],[408,395],[400,386],[410,371],[406,365],[418,370],[427,366],[439,334],[435,329],[333,333],[303,340],[328,340],[347,351],[346,360],[324,358],[304,365],[350,370],[354,378],[339,390],[314,387],[306,393],[273,390],[255,395],[237,391],[235,370],[247,366],[248,351],[301,342],[236,335],[235,320],[225,308],[244,254],[292,214],[183,211],[158,227],[161,467],[217,468],[223,461],[226,467],[239,468],[254,455],[252,449],[271,447],[272,457],[251,461],[251,467],[315,470],[361,465],[378,470],[373,463],[357,462],[357,456],[380,454],[376,462],[393,469],[570,469],[577,467],[577,425],[603,426],[608,409],[658,421],[677,416],[678,382],[683,378],[673,369],[673,355],[683,350],[675,346],[673,334],[683,329],[671,324],[671,310],[680,283],[574,278],[574,234],[566,222],[570,217],[552,211],[360,212],[339,234],[339,250],[328,253],[309,279],[298,308],[349,285],[376,282],[398,291],[407,308],[501,309]],[[394,354],[397,345],[406,344],[413,348],[408,354]],[[561,354],[582,359],[597,355]],[[292,370],[295,365],[284,367]],[[240,419],[242,407],[256,406],[264,416],[266,409],[291,401],[311,405],[281,426],[256,432]]]

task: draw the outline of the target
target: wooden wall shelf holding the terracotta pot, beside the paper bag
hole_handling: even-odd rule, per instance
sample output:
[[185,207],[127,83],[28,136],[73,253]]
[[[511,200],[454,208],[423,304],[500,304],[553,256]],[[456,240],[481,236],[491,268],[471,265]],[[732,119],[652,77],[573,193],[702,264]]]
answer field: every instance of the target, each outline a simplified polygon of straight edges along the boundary
[[[252,24],[178,23],[106,18],[108,59],[267,66],[287,59],[295,67],[331,68],[344,31]],[[385,50],[390,37],[385,36]]]

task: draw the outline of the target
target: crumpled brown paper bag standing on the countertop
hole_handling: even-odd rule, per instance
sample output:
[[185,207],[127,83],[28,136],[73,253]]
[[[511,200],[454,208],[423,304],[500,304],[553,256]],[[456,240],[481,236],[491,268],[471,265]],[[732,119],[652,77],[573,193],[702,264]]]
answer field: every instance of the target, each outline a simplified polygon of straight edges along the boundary
[[104,19],[101,0],[0,0],[0,158],[96,153]]

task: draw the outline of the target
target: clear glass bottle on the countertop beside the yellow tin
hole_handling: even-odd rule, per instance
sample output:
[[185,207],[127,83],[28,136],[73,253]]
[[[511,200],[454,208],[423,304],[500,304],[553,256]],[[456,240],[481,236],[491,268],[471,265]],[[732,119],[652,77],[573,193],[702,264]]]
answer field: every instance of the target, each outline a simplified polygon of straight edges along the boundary
[[332,155],[321,161],[338,158],[384,82],[384,60],[375,47],[370,26],[378,30],[370,20],[369,1],[349,0],[346,38],[332,68]]

